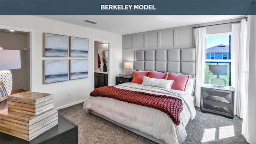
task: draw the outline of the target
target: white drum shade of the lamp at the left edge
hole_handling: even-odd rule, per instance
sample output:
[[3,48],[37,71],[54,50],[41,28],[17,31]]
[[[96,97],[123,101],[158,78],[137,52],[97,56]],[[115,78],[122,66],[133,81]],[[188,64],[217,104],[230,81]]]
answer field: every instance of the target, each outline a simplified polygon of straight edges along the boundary
[[21,68],[20,50],[0,50],[0,70]]

